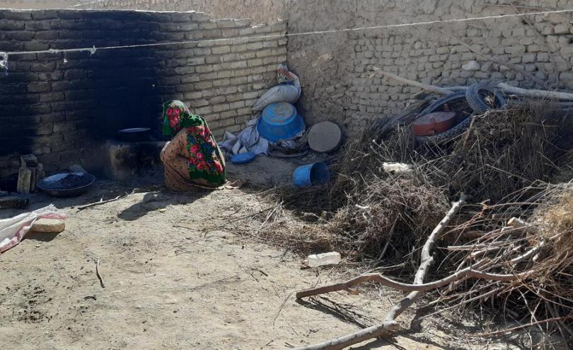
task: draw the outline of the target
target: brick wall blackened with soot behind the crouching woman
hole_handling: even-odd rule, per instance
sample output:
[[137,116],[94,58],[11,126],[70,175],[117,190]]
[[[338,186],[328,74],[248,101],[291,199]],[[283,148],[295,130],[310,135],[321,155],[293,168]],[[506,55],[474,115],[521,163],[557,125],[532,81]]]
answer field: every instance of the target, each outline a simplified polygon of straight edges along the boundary
[[[286,23],[214,21],[204,13],[0,11],[0,52],[199,43],[90,52],[9,55],[0,72],[0,177],[9,156],[33,152],[47,169],[89,166],[91,149],[120,128],[158,134],[161,103],[179,99],[217,136],[237,131],[250,106],[276,84],[287,59]],[[239,39],[239,37],[241,37]],[[224,41],[204,41],[237,38]]]

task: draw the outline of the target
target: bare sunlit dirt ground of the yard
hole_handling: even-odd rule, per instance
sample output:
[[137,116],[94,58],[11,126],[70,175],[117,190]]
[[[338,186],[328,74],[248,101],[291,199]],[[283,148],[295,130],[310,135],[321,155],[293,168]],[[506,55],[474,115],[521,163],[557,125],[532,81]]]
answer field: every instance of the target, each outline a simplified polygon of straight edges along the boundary
[[[375,324],[400,296],[369,288],[297,303],[294,291],[342,271],[301,270],[300,256],[221,230],[262,208],[248,191],[173,193],[158,178],[96,185],[80,198],[33,196],[33,208],[54,203],[69,219],[56,237],[30,235],[0,256],[3,349],[289,349]],[[400,320],[409,328],[411,318]],[[451,321],[459,332],[430,319],[354,349],[516,349],[464,337]]]

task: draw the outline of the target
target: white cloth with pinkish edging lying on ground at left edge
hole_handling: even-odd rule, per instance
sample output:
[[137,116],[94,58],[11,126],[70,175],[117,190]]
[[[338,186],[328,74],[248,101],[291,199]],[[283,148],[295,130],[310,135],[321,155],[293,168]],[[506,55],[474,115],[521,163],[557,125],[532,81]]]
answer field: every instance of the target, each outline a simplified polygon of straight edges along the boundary
[[18,245],[33,223],[40,218],[65,220],[67,216],[50,204],[30,213],[0,220],[0,253]]

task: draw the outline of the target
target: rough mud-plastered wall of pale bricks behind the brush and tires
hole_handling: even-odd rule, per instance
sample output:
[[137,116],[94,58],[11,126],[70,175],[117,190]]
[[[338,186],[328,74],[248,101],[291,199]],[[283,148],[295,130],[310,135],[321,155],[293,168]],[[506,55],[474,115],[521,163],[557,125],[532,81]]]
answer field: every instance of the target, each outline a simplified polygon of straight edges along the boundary
[[[308,0],[292,9],[289,33],[417,23],[503,13],[573,9],[571,0]],[[319,16],[317,14],[320,14]],[[386,81],[374,67],[439,86],[509,81],[573,90],[573,13],[439,23],[289,38],[289,65],[303,84],[310,123],[335,120],[351,133],[398,113],[419,91]],[[468,62],[475,61],[463,68]],[[505,64],[504,64],[505,63]],[[470,67],[471,66],[471,67]],[[511,68],[510,68],[511,67]],[[514,69],[514,67],[516,69]]]

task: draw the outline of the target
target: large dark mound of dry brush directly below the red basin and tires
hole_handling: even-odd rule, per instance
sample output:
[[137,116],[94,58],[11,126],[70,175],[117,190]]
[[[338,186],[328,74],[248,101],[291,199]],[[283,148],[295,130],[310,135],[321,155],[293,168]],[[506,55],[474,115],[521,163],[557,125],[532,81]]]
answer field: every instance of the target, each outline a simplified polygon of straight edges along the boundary
[[[436,164],[452,192],[497,203],[533,181],[548,181],[573,146],[571,118],[548,101],[474,117]],[[430,169],[429,171],[432,171]]]

